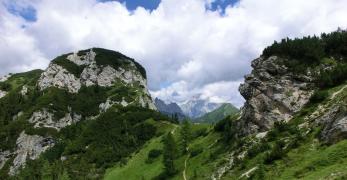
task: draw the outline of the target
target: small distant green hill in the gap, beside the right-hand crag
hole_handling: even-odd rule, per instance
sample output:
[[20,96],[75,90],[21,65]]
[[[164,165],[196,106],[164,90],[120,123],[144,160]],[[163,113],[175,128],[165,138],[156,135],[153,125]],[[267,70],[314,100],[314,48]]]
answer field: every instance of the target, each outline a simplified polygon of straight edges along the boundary
[[219,108],[203,115],[202,117],[194,119],[194,122],[199,123],[216,123],[227,116],[233,116],[239,112],[235,106],[230,103],[225,103],[221,105]]

